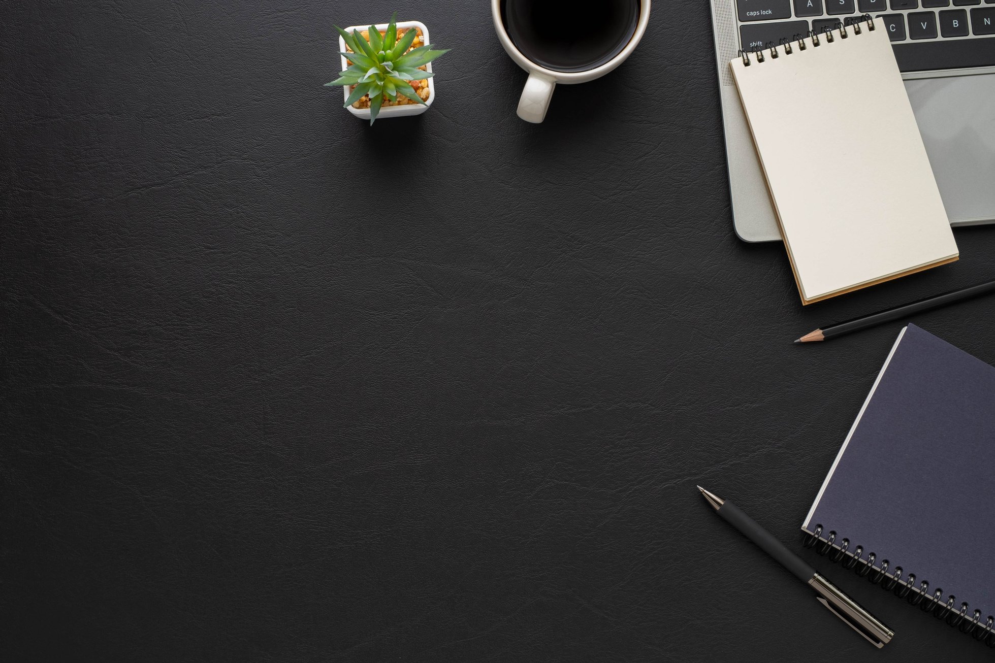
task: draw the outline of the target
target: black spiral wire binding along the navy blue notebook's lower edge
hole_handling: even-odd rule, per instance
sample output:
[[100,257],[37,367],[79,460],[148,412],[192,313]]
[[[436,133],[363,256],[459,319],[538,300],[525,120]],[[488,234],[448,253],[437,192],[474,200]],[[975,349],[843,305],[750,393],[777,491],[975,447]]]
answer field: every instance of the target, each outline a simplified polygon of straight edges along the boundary
[[989,647],[995,647],[995,616],[989,614],[982,623],[981,610],[974,610],[973,614],[968,616],[967,603],[962,602],[957,609],[953,594],[947,596],[944,602],[941,587],[936,587],[932,593],[929,593],[928,580],[919,580],[919,586],[916,587],[915,574],[908,574],[902,578],[904,570],[897,566],[895,571],[889,574],[891,563],[888,560],[882,560],[878,564],[878,556],[874,553],[865,558],[863,546],[857,546],[851,553],[849,539],[841,539],[837,544],[835,531],[829,532],[828,538],[824,538],[822,533],[822,525],[816,525],[815,532],[806,532],[805,548],[815,548],[819,555],[828,557],[831,562],[839,562],[844,569],[853,569],[858,576],[871,580],[886,591],[894,590],[896,596],[904,598],[912,605],[918,605],[923,612],[932,612],[937,619],[943,619],[950,626],[958,627],[961,632],[970,633],[975,640],[983,640]]

